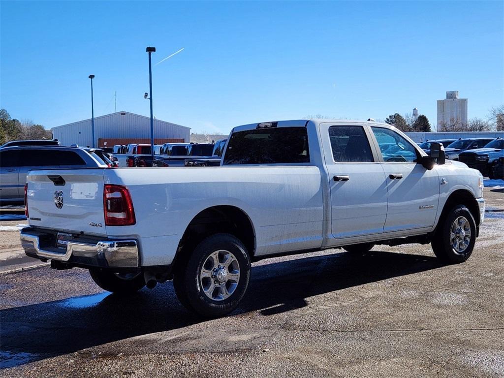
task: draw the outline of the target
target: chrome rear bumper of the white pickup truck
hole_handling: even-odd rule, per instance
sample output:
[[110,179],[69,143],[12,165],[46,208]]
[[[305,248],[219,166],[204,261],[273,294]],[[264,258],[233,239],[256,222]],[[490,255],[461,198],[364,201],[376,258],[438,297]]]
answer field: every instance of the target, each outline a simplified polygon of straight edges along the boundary
[[31,227],[21,230],[21,245],[25,254],[30,257],[64,263],[79,262],[102,268],[137,268],[139,266],[136,240],[107,239],[90,242],[69,240],[66,250],[55,247],[53,240],[52,233]]

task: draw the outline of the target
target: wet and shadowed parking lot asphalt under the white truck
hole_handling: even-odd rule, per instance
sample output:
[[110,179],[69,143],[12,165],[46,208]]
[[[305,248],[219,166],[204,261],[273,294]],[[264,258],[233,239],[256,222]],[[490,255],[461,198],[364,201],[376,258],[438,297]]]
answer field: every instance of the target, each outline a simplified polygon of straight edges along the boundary
[[485,217],[460,265],[430,244],[255,263],[216,320],[171,282],[123,298],[82,269],[0,275],[0,376],[504,376],[504,212]]

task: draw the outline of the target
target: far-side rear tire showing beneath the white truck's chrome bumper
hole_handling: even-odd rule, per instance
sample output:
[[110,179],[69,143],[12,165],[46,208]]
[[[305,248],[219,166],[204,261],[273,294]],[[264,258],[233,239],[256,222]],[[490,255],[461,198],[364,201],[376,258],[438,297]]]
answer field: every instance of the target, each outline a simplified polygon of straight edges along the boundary
[[144,274],[116,274],[105,269],[90,269],[93,281],[103,290],[117,294],[132,294],[145,286]]

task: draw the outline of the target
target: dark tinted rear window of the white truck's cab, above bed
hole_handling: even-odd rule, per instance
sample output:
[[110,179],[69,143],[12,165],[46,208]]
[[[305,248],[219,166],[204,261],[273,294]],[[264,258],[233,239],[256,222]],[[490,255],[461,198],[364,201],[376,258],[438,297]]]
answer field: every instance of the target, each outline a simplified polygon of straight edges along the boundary
[[309,163],[306,128],[271,128],[231,135],[224,165]]

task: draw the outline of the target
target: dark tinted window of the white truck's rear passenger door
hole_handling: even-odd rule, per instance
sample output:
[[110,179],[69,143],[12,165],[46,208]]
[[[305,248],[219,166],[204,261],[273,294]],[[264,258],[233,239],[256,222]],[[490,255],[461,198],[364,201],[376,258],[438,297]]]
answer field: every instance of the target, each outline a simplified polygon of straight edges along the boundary
[[331,126],[329,139],[337,163],[374,161],[362,126]]

